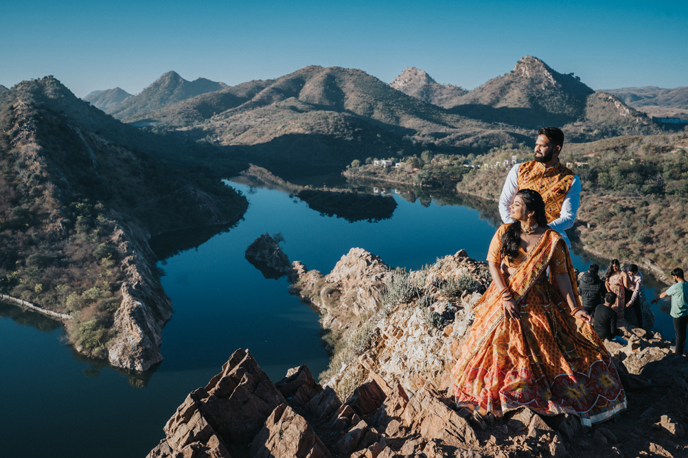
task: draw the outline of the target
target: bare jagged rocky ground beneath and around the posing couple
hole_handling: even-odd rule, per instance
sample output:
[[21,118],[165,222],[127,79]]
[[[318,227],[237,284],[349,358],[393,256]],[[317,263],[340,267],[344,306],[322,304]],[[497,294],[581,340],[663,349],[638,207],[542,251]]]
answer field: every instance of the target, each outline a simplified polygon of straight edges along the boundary
[[273,384],[237,350],[149,457],[688,457],[688,362],[658,334],[628,326],[627,346],[607,342],[629,402],[609,422],[481,416],[456,410],[447,389],[482,263],[460,251],[409,274],[354,248],[327,276],[293,267],[292,292],[338,336],[323,384],[305,365]]

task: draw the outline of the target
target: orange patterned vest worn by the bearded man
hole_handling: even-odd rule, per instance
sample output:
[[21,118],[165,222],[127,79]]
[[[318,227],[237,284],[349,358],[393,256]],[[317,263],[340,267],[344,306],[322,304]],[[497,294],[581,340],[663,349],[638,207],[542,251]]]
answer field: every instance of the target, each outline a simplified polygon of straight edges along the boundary
[[528,161],[518,168],[518,188],[536,190],[545,201],[547,222],[551,223],[561,215],[563,198],[571,188],[576,175],[570,169],[557,162],[557,165],[545,170],[544,164]]

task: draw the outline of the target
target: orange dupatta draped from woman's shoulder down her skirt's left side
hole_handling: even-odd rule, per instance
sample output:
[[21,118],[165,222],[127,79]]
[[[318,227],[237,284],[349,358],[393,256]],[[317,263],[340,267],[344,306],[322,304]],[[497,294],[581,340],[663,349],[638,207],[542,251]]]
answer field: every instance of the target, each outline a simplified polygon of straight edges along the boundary
[[[542,235],[539,242],[533,247],[524,258],[523,262],[516,271],[511,274],[506,281],[506,285],[513,294],[514,301],[519,303],[528,294],[528,291],[535,284],[535,281],[544,272],[557,248],[557,243],[562,240],[561,235],[555,230],[548,229]],[[578,287],[573,273],[571,257],[568,254],[566,244],[563,244],[566,252],[566,268],[571,281],[574,300],[581,307],[581,299],[578,295]],[[551,277],[551,276],[550,276]],[[553,278],[550,278],[553,287],[558,290]],[[564,294],[561,294],[565,297]],[[502,309],[502,296],[499,294],[495,283],[491,283],[480,301],[475,305],[475,321],[471,325],[471,334],[463,345],[463,352],[453,369],[455,389],[462,386],[468,372],[466,367],[473,360],[475,355],[482,349],[488,338],[504,321],[504,309]]]

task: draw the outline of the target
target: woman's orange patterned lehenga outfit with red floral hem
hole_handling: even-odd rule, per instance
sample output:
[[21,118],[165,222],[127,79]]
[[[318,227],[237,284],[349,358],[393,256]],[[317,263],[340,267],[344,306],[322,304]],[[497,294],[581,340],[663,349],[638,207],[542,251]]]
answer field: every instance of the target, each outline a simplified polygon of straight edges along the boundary
[[[497,230],[488,261],[496,256],[499,262],[507,227]],[[625,392],[603,342],[590,324],[570,315],[554,284],[537,280],[548,266],[550,274],[568,272],[581,306],[561,235],[546,230],[537,246],[511,266],[518,261],[507,285],[521,319],[504,318],[502,298],[492,283],[475,306],[471,334],[453,369],[458,406],[497,416],[528,406],[542,415],[579,415],[586,426],[623,411]]]

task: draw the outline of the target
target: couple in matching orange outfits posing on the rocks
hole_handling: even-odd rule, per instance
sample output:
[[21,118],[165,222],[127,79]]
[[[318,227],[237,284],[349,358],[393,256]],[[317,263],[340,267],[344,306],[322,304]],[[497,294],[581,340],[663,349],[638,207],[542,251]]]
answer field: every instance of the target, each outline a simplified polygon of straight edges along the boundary
[[[581,423],[623,411],[610,353],[582,309],[565,229],[579,207],[579,177],[559,163],[563,132],[538,131],[535,160],[512,168],[490,244],[493,282],[475,306],[453,369],[458,406],[501,416],[520,406],[572,413]],[[549,274],[549,278],[548,278]]]

